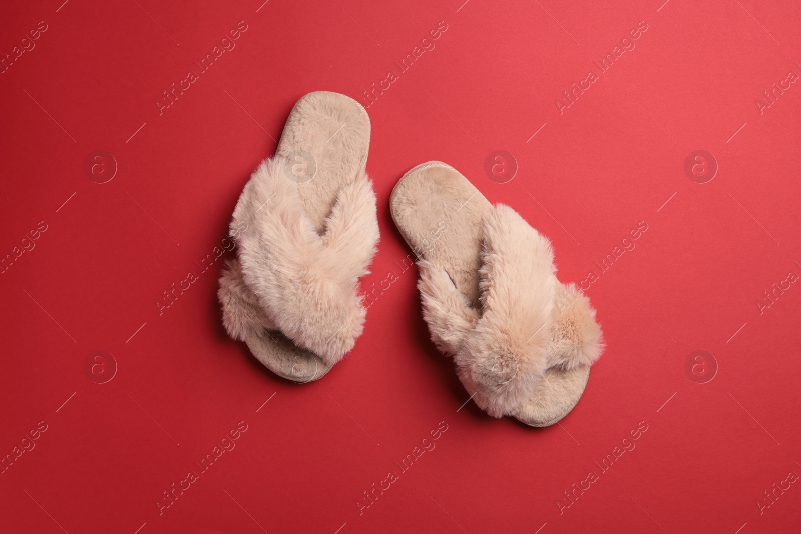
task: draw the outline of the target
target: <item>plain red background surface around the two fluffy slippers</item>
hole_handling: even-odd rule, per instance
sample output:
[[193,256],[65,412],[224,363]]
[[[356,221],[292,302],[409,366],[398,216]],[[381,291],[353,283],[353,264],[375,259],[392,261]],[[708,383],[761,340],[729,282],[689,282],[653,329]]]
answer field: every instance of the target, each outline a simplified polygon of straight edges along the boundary
[[[762,515],[757,501],[801,474],[801,287],[762,314],[756,300],[801,274],[801,87],[763,114],[755,102],[801,73],[798,2],[20,3],[2,7],[2,53],[38,21],[47,30],[0,74],[0,254],[47,230],[0,275],[0,454],[39,421],[47,430],[0,475],[0,530],[797,528],[798,484]],[[239,21],[235,49],[159,114],[162,91]],[[348,357],[306,385],[264,370],[221,326],[222,260],[159,315],[163,291],[226,235],[296,100],[332,90],[367,103],[440,21],[436,48],[368,109],[381,242],[363,287],[399,279]],[[639,21],[634,50],[560,114],[562,91]],[[119,166],[103,184],[83,170],[99,150]],[[517,161],[508,183],[483,170],[496,150]],[[709,183],[683,170],[696,150],[718,162]],[[428,340],[388,211],[396,181],[429,159],[547,235],[563,282],[598,273],[594,261],[648,225],[587,291],[608,347],[559,425],[457,412],[468,395]],[[102,384],[84,371],[98,350],[118,365]],[[717,362],[708,383],[685,372],[697,350]],[[163,491],[239,421],[235,449],[159,516]],[[437,447],[360,515],[363,492],[441,421]],[[601,474],[594,462],[641,421],[636,448]],[[599,480],[560,514],[590,470]]]

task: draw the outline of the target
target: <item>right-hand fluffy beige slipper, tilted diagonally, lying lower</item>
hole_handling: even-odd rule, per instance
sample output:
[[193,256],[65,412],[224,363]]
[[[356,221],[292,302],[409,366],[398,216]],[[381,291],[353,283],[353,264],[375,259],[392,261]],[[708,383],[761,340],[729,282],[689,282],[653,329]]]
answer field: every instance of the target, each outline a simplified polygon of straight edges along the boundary
[[533,427],[566,416],[603,343],[590,300],[557,280],[549,240],[441,162],[407,172],[390,203],[431,339],[479,408]]

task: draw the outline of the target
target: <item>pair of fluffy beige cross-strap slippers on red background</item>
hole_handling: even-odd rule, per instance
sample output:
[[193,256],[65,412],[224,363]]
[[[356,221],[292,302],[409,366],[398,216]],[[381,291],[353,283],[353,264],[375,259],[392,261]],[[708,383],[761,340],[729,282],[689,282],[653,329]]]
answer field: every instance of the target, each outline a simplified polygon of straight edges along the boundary
[[[220,279],[223,324],[286,379],[319,379],[362,332],[359,279],[379,239],[364,172],[369,139],[358,102],[306,94],[236,205],[238,260]],[[440,162],[407,172],[391,211],[418,257],[433,342],[453,357],[476,404],[535,427],[566,416],[602,335],[589,299],[558,282],[548,239]]]

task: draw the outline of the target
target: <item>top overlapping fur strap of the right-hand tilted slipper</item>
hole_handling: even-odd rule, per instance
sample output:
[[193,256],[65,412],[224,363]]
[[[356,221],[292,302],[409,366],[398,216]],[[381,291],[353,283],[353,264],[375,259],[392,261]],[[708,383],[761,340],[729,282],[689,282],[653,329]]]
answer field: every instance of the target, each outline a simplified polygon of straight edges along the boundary
[[503,204],[485,217],[481,259],[484,313],[455,360],[500,417],[525,403],[545,371],[556,267],[549,240]]

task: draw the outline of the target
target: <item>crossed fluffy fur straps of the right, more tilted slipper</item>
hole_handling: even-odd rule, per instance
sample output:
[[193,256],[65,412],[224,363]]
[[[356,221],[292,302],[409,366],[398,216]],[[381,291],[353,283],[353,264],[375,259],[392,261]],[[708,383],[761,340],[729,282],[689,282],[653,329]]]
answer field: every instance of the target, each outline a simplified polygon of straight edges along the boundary
[[600,329],[574,286],[568,289],[576,296],[566,299],[549,240],[512,208],[498,204],[485,215],[481,259],[481,310],[437,263],[418,263],[418,287],[434,343],[453,356],[476,404],[500,417],[528,401],[547,367],[592,363],[600,354]]

